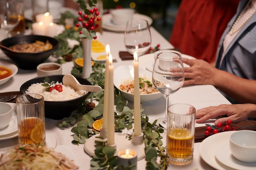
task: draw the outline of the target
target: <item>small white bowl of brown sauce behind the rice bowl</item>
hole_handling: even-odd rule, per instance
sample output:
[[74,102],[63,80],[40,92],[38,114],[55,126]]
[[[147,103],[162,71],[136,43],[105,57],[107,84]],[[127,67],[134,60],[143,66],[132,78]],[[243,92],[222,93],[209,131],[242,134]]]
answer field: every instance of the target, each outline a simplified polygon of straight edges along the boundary
[[42,63],[36,67],[36,73],[38,76],[61,75],[62,66],[55,62]]

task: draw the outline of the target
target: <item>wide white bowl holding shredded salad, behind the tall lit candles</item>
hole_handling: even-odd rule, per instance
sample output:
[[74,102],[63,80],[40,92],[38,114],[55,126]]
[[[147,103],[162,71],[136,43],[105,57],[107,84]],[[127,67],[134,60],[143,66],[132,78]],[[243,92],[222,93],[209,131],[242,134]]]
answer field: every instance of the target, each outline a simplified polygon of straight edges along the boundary
[[[120,84],[131,77],[134,77],[134,70],[133,66],[131,65],[122,65],[115,68],[114,70],[114,85],[121,91],[121,93],[124,95],[126,99],[128,99],[129,102],[134,101],[134,94],[122,91],[120,89]],[[152,73],[143,68],[139,68],[139,77],[148,77],[148,79],[150,79],[150,82],[152,82]],[[162,96],[163,94],[160,92],[153,94],[141,94],[140,102],[142,104],[150,103],[159,99]]]

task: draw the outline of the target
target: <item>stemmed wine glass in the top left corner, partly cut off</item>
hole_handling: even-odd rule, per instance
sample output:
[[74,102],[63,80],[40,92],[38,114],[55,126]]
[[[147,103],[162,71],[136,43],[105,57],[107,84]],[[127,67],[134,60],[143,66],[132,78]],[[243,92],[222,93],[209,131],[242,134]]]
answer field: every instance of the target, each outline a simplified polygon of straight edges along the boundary
[[18,3],[15,0],[1,0],[0,1],[0,17],[1,17],[1,29],[7,31],[13,30],[20,22],[20,15],[18,11]]

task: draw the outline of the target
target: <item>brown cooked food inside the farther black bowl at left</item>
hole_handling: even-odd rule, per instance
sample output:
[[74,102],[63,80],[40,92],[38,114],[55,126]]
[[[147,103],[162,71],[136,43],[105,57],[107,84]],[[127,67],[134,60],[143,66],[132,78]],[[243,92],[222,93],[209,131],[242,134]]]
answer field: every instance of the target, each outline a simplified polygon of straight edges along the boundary
[[52,49],[52,44],[48,40],[46,42],[36,41],[33,43],[16,44],[9,48],[17,53],[37,53]]

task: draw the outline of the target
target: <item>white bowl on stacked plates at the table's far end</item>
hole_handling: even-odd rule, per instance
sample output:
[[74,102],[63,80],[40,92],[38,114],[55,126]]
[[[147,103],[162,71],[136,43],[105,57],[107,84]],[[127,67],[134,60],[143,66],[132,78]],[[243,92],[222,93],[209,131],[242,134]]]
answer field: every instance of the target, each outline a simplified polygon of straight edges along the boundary
[[133,9],[113,9],[111,11],[112,22],[116,25],[126,25],[127,21],[132,19],[133,14]]

